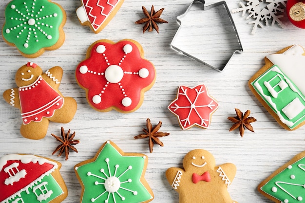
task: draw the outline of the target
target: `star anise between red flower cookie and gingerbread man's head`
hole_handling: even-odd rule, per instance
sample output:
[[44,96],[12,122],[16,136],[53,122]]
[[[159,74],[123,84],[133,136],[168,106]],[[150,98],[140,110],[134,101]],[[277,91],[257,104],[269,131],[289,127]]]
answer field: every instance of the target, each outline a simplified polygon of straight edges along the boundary
[[134,139],[143,139],[143,138],[149,138],[148,145],[149,145],[149,151],[152,153],[153,143],[156,143],[163,147],[163,143],[160,141],[159,137],[164,137],[170,135],[170,133],[167,132],[158,132],[158,130],[161,128],[162,122],[159,121],[158,125],[154,126],[152,128],[151,120],[148,118],[146,120],[146,127],[147,129],[143,129],[143,132],[145,134],[140,134],[134,137]]

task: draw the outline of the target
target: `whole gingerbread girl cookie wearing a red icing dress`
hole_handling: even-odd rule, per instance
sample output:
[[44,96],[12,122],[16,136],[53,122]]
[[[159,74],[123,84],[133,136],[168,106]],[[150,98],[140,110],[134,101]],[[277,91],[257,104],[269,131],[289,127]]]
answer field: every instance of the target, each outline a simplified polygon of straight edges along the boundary
[[49,121],[69,123],[73,119],[76,101],[64,97],[58,90],[62,74],[59,66],[43,74],[37,64],[29,62],[16,73],[19,88],[3,93],[5,101],[21,111],[20,132],[23,137],[41,139],[47,133]]

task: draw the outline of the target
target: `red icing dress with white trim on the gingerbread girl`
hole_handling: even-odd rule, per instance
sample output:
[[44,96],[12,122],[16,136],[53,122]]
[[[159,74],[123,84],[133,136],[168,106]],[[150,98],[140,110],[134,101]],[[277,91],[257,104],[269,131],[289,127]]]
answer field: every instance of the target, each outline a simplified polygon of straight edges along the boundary
[[39,75],[29,86],[19,88],[23,124],[52,117],[63,106],[64,99]]

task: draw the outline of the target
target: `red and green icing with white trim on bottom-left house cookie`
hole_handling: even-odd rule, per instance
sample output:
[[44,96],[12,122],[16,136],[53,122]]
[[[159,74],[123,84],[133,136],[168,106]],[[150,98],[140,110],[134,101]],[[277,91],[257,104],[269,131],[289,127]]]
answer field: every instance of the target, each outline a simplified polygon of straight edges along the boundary
[[52,173],[57,163],[34,155],[9,154],[0,159],[0,203],[49,203],[62,195]]

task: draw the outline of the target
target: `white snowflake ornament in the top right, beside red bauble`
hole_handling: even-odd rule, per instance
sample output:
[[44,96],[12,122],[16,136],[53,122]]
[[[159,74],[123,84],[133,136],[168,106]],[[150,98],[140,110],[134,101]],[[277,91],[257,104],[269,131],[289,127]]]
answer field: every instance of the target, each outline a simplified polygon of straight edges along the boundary
[[[250,21],[249,24],[254,24],[251,34],[254,35],[256,32],[257,26],[261,28],[264,27],[263,22],[266,26],[271,22],[271,26],[275,22],[279,24],[281,28],[284,28],[285,25],[280,20],[283,18],[283,15],[277,15],[278,12],[283,13],[286,7],[287,0],[245,0],[247,3],[239,2],[239,8],[232,9],[232,13],[237,13],[242,11],[242,16],[245,16],[248,12],[247,20],[252,18],[254,20]],[[265,6],[267,4],[267,6]]]

